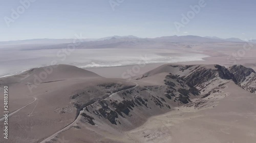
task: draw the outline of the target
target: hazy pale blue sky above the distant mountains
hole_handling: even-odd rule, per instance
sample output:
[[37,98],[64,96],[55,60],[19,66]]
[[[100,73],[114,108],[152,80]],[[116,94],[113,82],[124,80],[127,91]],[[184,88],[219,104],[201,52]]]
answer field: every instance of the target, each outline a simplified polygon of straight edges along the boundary
[[11,9],[17,11],[22,4],[2,0],[0,41],[73,38],[76,33],[87,38],[198,35],[256,39],[256,1],[253,0],[205,0],[206,6],[177,32],[174,22],[181,22],[181,14],[186,15],[191,10],[189,6],[198,5],[199,1],[123,0],[113,11],[109,0],[37,0],[8,27],[6,17],[12,19]]

